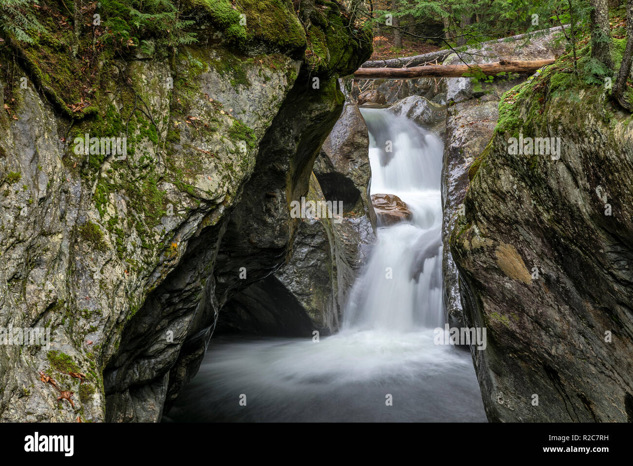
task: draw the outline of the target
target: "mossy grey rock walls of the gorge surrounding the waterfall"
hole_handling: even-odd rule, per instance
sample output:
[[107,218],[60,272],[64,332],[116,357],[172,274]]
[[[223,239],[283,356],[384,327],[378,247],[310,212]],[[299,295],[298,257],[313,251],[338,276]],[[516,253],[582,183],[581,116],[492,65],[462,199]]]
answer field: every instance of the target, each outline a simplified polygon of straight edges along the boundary
[[[633,420],[632,123],[573,81],[560,28],[467,50],[557,59],[534,75],[363,91],[371,37],[338,3],[185,3],[202,40],[163,51],[87,58],[96,39],[57,23],[0,42],[0,327],[51,329],[0,346],[0,420],[158,422],[214,335],[339,332],[377,228],[413,216],[370,195],[367,104],[444,142],[444,317],[487,330],[488,420]],[[86,134],[127,154],[77,150]],[[558,137],[560,158],[513,137]],[[342,212],[293,216],[302,199]]]

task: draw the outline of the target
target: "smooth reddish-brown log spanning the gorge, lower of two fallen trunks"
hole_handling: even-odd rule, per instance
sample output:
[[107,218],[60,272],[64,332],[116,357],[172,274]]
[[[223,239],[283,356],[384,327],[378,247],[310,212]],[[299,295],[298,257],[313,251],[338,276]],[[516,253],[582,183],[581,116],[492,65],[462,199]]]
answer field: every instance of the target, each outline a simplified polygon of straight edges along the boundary
[[354,79],[410,79],[420,77],[464,77],[496,76],[501,73],[530,73],[554,63],[551,60],[499,60],[495,63],[472,63],[471,65],[426,65],[411,68],[358,68]]

